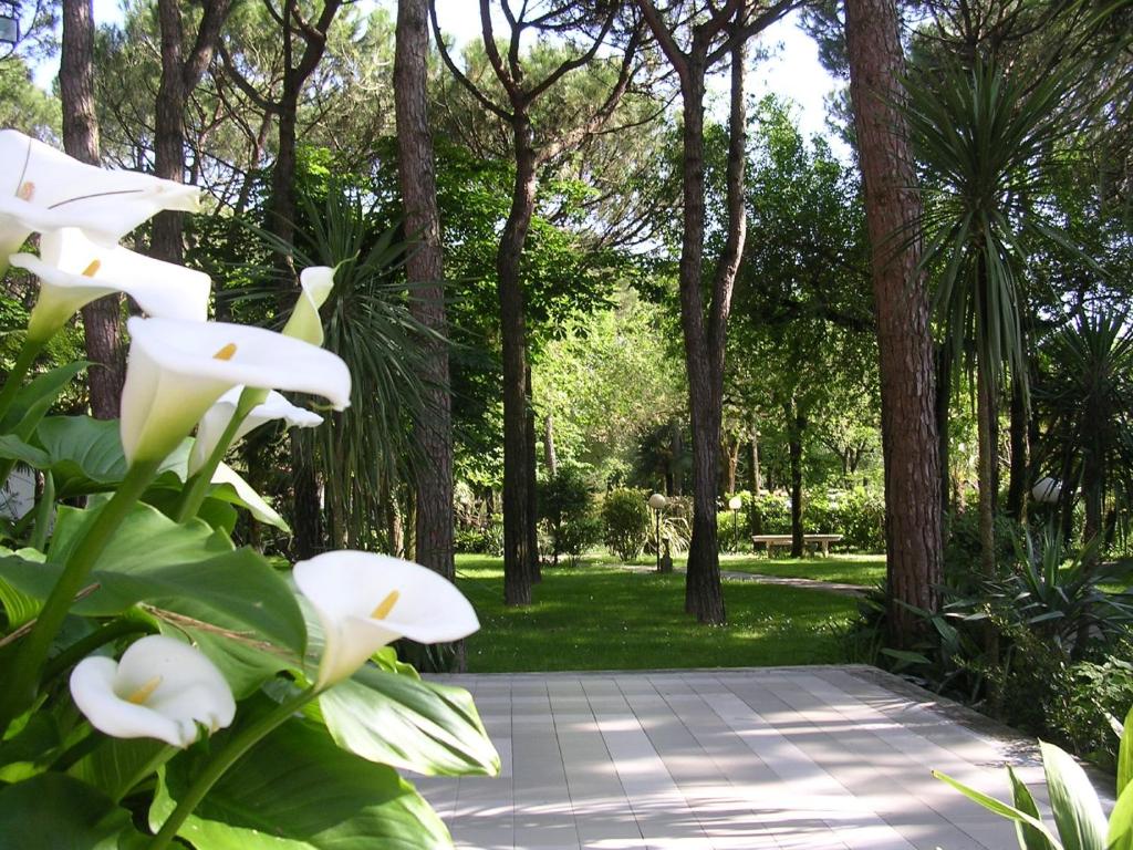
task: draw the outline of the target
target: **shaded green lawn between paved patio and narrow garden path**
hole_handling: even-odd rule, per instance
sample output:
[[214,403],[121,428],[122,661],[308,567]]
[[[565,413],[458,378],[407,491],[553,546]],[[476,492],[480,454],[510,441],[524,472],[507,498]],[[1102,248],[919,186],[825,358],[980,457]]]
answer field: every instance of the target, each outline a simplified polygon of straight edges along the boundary
[[457,556],[457,584],[476,606],[474,673],[772,666],[844,661],[837,636],[854,600],[793,587],[730,583],[729,622],[684,613],[684,577],[612,567],[544,568],[535,604],[503,605],[499,558]]

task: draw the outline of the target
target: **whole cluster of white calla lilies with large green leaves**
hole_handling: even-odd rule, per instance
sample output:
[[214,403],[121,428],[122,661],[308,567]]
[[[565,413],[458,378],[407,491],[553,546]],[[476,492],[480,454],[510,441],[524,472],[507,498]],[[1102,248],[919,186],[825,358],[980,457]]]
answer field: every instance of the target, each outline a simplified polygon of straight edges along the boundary
[[[0,844],[451,847],[398,768],[493,774],[499,757],[469,695],[389,644],[460,639],[476,614],[406,561],[329,552],[281,572],[233,544],[236,509],[286,525],[225,451],[273,419],[317,425],[280,391],[343,409],[351,376],[321,348],[332,269],[303,272],[275,333],[207,322],[207,275],[118,245],[197,204],[0,131],[0,274],[40,282],[0,390],[0,477],[24,464],[43,482],[0,547]],[[32,233],[39,254],[18,253]],[[120,419],[46,415],[87,364],[27,381],[37,355],[111,292],[145,314]]]

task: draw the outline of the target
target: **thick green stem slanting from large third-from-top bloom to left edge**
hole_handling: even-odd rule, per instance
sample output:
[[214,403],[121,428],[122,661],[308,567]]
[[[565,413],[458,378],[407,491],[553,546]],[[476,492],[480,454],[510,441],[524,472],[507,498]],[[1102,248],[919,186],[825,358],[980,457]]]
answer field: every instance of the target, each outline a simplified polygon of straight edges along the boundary
[[86,534],[71,550],[67,566],[46,602],[43,603],[43,610],[40,611],[35,626],[19,647],[6,687],[0,690],[0,737],[17,713],[34,698],[51,641],[59,634],[75,595],[83,589],[95,561],[107,549],[107,544],[130,509],[150,486],[160,465],[160,460],[134,464],[127,470],[118,491],[93,518]]

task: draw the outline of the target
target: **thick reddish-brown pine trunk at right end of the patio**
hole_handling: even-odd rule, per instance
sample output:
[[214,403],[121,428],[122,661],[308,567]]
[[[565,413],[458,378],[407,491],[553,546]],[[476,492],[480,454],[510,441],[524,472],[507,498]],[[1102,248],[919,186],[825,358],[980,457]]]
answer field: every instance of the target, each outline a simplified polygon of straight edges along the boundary
[[914,274],[920,196],[908,150],[904,54],[893,0],[846,0],[850,93],[872,250],[881,377],[891,640],[911,646],[923,621],[898,604],[935,611],[940,583],[940,466],[932,341],[925,280]]

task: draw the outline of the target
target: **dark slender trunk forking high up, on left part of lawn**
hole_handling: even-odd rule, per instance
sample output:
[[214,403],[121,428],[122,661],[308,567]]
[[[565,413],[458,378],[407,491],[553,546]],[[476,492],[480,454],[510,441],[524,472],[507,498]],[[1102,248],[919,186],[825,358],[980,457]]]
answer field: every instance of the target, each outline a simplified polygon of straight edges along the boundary
[[516,182],[511,212],[496,253],[500,330],[503,338],[503,600],[531,604],[530,518],[528,517],[527,322],[520,258],[535,213],[535,151],[530,120],[519,114],[512,125]]

